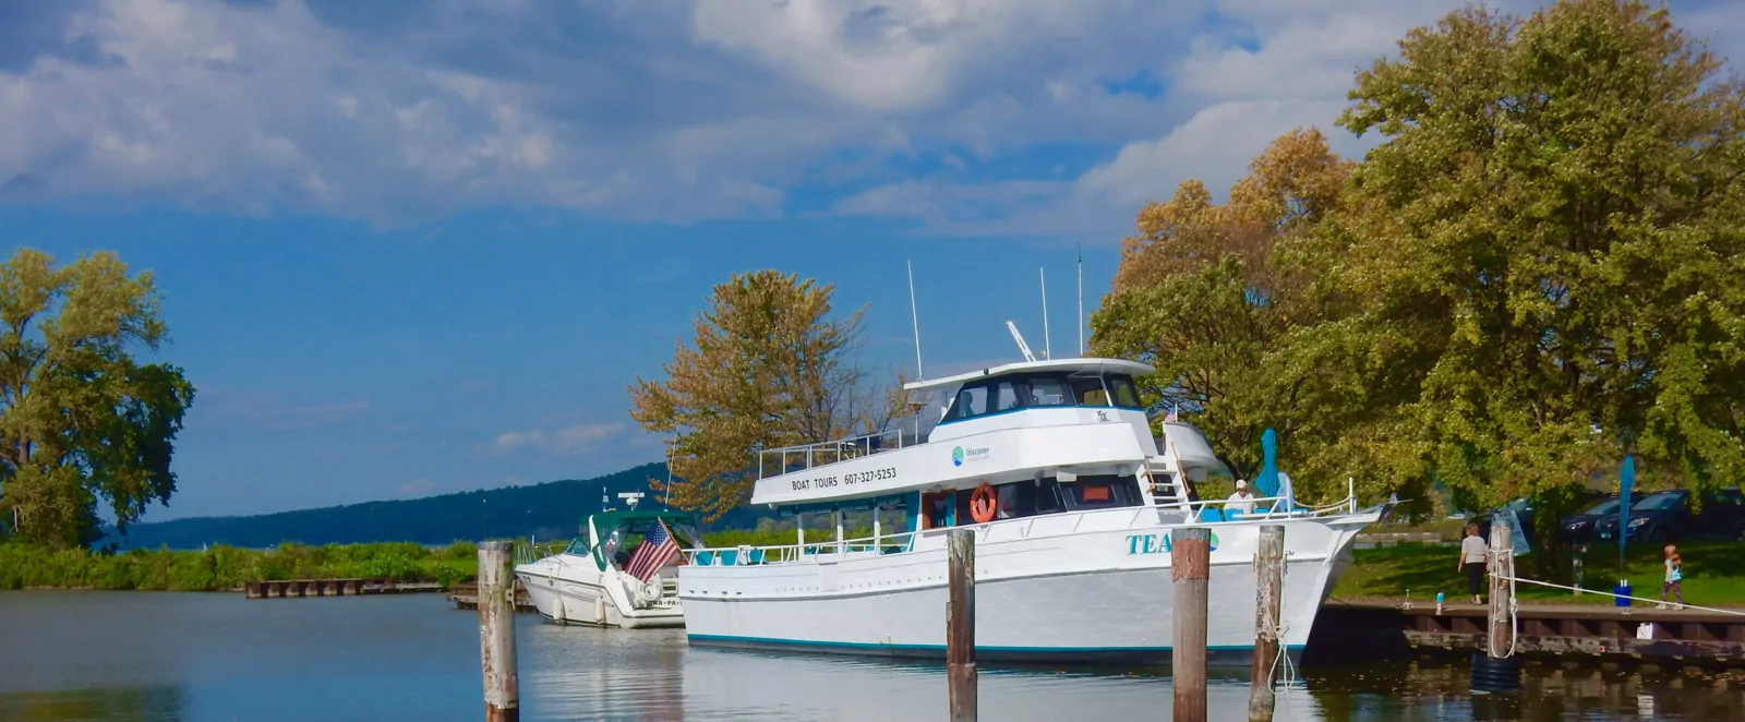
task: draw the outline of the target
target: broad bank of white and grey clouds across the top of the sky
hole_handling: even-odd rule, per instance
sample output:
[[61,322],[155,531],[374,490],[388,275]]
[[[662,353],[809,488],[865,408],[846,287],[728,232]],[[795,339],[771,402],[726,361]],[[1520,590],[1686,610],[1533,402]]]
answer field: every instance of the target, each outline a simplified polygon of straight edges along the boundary
[[[1331,127],[1351,73],[1464,3],[5,5],[0,201],[688,221],[782,216],[804,197],[934,232],[1126,225],[1181,178],[1222,190],[1295,126],[1361,152]],[[1745,5],[1675,12],[1722,52],[1745,47],[1729,33]],[[1110,91],[1122,84],[1150,89]],[[1026,157],[1063,145],[1099,155]]]

